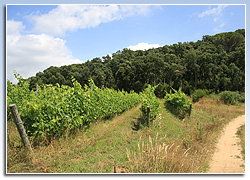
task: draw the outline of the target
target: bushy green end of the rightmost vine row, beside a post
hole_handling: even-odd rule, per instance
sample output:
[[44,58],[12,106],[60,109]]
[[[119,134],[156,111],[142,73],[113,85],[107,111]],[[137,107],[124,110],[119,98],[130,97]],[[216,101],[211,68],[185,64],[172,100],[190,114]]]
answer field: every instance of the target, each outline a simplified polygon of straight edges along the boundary
[[191,101],[187,99],[185,93],[181,91],[181,88],[178,91],[173,89],[173,91],[174,94],[172,91],[170,91],[169,94],[166,94],[165,105],[171,113],[175,114],[180,119],[184,119],[186,114],[189,112]]

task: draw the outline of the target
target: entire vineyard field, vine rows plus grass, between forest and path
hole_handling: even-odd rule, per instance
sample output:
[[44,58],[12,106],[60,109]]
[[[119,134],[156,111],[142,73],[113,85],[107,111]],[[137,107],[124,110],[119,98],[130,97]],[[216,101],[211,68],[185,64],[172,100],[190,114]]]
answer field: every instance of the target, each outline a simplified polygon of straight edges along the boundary
[[[8,172],[206,172],[221,128],[244,114],[244,94],[233,92],[197,90],[191,106],[181,89],[158,99],[157,86],[135,93],[98,88],[92,79],[82,87],[72,78],[72,87],[44,84],[30,90],[29,81],[15,76],[18,84],[7,81]],[[10,104],[17,106],[32,156]],[[149,128],[138,124],[148,118],[148,106]]]

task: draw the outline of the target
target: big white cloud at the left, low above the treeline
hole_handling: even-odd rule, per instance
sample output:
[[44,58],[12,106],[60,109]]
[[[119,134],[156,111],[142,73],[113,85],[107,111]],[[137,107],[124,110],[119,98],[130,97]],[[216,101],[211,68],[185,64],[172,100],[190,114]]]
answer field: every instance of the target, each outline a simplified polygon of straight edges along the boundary
[[49,66],[82,63],[72,57],[65,40],[46,34],[21,35],[23,28],[21,22],[7,21],[7,79],[16,82],[14,70],[28,78]]

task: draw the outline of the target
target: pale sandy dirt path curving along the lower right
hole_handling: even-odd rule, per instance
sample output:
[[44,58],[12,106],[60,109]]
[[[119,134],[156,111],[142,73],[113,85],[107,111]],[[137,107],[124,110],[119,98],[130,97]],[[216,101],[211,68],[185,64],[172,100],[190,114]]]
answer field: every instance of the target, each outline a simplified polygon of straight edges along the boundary
[[245,123],[245,115],[230,122],[224,129],[216,145],[208,173],[245,173],[245,161],[241,156],[237,128]]

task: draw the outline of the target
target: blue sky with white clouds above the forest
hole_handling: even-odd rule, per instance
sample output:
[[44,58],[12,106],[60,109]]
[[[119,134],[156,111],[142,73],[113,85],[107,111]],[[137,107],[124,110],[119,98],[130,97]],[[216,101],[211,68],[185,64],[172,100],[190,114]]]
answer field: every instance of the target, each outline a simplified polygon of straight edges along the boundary
[[7,5],[7,79],[245,28],[244,5]]

